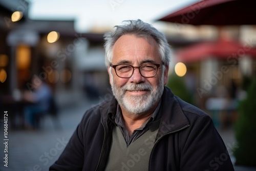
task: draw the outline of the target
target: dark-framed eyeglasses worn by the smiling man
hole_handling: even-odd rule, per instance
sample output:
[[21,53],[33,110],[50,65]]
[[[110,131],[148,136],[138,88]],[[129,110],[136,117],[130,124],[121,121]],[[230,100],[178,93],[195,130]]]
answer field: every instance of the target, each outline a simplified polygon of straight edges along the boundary
[[133,67],[131,65],[112,65],[112,68],[115,69],[116,75],[120,78],[130,78],[133,75],[134,69],[138,68],[140,75],[146,78],[154,77],[157,74],[160,64],[147,63],[139,67]]

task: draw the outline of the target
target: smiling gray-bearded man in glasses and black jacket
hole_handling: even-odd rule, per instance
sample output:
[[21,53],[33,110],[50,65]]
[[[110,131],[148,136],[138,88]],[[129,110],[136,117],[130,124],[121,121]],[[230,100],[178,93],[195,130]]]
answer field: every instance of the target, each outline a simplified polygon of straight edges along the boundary
[[50,170],[233,170],[210,117],[164,87],[164,35],[130,20],[104,39],[115,98],[84,114]]

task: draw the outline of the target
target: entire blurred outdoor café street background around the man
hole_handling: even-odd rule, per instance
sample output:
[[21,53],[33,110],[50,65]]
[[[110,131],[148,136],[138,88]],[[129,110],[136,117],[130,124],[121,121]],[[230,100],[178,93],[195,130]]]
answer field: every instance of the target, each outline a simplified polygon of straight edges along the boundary
[[236,170],[256,170],[253,7],[231,0],[0,0],[0,137],[7,111],[9,138],[8,167],[2,162],[0,170],[49,169],[84,112],[112,97],[103,34],[138,18],[172,47],[167,86],[212,118]]

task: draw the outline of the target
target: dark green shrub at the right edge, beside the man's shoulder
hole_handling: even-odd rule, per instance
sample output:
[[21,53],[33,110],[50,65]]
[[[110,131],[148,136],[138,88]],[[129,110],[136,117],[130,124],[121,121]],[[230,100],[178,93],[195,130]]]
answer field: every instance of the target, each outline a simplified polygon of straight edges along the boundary
[[234,149],[236,164],[256,166],[256,79],[247,91],[247,97],[240,101],[235,136],[238,148]]

